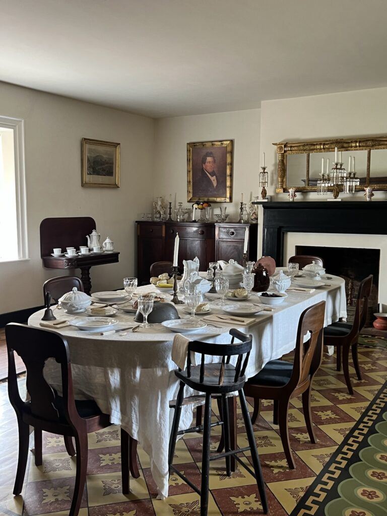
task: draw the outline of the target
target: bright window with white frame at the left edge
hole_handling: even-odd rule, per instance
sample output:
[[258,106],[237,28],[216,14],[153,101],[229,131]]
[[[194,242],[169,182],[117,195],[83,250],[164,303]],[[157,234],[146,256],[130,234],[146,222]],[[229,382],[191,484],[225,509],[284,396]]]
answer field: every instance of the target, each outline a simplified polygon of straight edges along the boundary
[[0,116],[0,262],[27,256],[24,120]]

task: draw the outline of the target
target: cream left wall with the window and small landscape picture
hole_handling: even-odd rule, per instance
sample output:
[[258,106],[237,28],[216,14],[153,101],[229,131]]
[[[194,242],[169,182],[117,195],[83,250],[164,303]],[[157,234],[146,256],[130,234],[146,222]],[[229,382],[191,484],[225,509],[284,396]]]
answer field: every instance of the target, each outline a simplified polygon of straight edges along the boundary
[[[102,241],[108,235],[121,252],[118,264],[91,268],[93,290],[119,288],[135,273],[134,220],[151,208],[154,120],[5,83],[0,114],[25,120],[30,259],[0,263],[0,314],[42,304],[44,280],[69,273],[42,266],[46,217],[93,217]],[[80,186],[83,137],[121,143],[120,188]]]

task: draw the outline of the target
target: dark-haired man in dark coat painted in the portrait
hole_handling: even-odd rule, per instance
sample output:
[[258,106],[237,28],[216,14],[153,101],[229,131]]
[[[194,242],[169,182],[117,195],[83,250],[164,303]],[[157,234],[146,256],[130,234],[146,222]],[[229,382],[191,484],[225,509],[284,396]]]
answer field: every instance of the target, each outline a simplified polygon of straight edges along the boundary
[[201,168],[193,170],[192,193],[199,198],[226,196],[226,171],[217,170],[216,158],[211,151],[201,157]]

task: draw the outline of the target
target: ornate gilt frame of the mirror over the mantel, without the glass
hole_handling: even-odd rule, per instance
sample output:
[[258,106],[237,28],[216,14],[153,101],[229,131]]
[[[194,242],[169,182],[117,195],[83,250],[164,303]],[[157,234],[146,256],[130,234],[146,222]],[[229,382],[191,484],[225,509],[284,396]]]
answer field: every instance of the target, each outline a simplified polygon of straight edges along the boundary
[[[352,138],[336,138],[329,140],[305,140],[305,141],[293,141],[293,142],[279,142],[273,143],[277,148],[278,154],[278,188],[277,193],[289,191],[288,188],[294,186],[297,191],[317,191],[316,186],[309,184],[309,162],[310,155],[312,153],[322,152],[334,152],[335,147],[337,151],[367,151],[367,166],[366,166],[366,178],[365,184],[356,186],[356,190],[363,190],[364,186],[369,186],[370,183],[370,163],[371,163],[371,151],[373,149],[387,149],[387,136],[365,136],[365,137],[352,137]],[[291,154],[306,154],[307,155],[307,166],[304,172],[305,186],[301,185],[289,185],[286,184],[286,169],[287,169],[287,156]],[[386,160],[387,170],[387,160]],[[387,175],[387,172],[386,172]],[[301,180],[300,180],[301,182]],[[372,184],[374,190],[387,190],[387,184]],[[329,187],[328,190],[333,190],[333,187]]]

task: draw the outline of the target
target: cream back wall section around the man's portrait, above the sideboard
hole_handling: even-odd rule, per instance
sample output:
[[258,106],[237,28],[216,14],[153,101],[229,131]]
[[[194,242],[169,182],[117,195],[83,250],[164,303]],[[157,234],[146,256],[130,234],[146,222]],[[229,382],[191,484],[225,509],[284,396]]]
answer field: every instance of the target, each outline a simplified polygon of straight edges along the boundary
[[[190,207],[187,143],[230,139],[234,140],[233,202],[212,206],[213,210],[227,206],[229,220],[238,220],[240,193],[244,192],[245,201],[249,201],[251,192],[257,195],[260,191],[260,109],[156,120],[154,196],[172,193],[176,203],[181,201],[183,206]],[[215,213],[220,213],[219,209]]]

